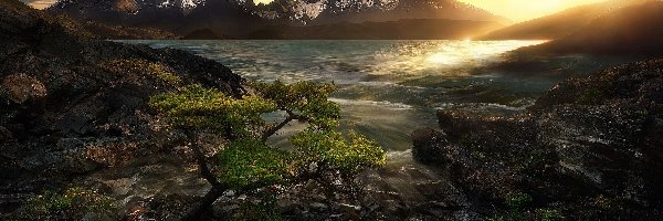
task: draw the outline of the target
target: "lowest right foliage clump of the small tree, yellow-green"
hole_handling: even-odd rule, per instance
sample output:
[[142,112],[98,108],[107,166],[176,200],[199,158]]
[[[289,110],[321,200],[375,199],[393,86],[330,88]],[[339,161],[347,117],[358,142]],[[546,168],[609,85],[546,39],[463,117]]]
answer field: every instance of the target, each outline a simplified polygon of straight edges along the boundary
[[355,133],[350,133],[349,139],[346,139],[338,131],[307,129],[293,136],[291,141],[297,147],[302,167],[316,162],[320,168],[354,173],[365,167],[380,167],[386,162],[385,151],[375,140]]

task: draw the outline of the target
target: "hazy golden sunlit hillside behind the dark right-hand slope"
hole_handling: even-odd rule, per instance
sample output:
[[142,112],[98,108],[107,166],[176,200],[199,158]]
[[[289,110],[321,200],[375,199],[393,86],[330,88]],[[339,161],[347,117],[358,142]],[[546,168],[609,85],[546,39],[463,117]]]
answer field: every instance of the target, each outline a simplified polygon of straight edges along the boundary
[[594,19],[623,7],[651,0],[611,0],[580,6],[565,11],[517,23],[483,36],[487,40],[552,40],[573,33]]

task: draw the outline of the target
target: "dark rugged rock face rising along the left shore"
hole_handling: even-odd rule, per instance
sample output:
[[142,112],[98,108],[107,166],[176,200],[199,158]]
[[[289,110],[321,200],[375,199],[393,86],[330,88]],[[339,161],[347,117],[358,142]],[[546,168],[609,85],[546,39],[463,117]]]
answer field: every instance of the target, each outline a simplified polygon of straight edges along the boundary
[[178,50],[90,40],[0,0],[0,213],[24,194],[150,156],[177,136],[147,106],[172,78],[242,93],[228,67]]

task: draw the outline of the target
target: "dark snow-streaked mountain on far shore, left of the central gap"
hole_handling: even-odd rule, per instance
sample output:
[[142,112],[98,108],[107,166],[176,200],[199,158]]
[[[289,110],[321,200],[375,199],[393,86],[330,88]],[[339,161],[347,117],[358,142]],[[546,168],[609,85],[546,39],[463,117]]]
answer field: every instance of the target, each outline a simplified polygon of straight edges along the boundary
[[155,28],[182,35],[201,29],[241,32],[263,23],[239,2],[228,0],[61,0],[48,11],[78,21]]

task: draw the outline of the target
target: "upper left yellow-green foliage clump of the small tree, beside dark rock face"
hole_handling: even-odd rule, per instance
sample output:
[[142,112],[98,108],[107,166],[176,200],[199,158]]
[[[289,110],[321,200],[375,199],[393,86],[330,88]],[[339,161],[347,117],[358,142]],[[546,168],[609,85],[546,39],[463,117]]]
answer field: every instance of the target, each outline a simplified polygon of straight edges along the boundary
[[230,129],[238,137],[257,136],[252,128],[264,126],[260,115],[276,110],[273,103],[261,97],[235,99],[198,84],[181,87],[178,93],[155,95],[149,104],[164,113],[171,126],[219,133]]

